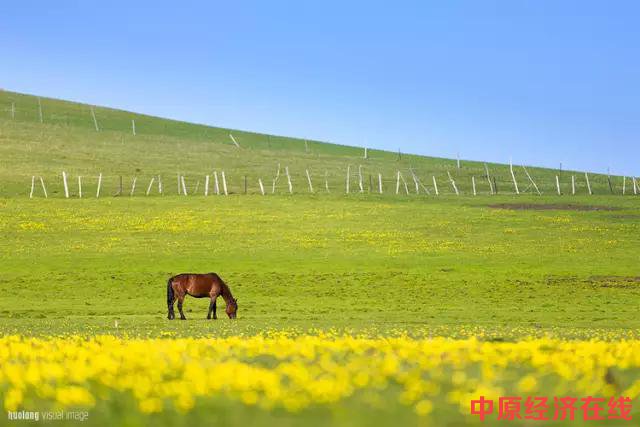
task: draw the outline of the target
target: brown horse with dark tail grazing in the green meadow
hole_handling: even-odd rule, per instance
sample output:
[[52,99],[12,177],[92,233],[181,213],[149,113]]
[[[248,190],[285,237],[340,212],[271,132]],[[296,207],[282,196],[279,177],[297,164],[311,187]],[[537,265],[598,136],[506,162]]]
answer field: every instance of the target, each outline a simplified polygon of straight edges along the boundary
[[184,313],[182,312],[182,303],[186,295],[191,295],[195,298],[211,298],[209,304],[209,312],[207,313],[207,319],[211,319],[211,313],[213,318],[216,316],[216,298],[221,296],[224,302],[227,303],[226,313],[230,319],[235,319],[238,313],[238,301],[231,295],[231,290],[226,283],[222,281],[220,276],[216,273],[207,274],[178,274],[169,279],[167,283],[167,307],[169,313],[167,317],[169,320],[175,319],[176,315],[173,312],[173,303],[178,300],[178,311],[180,311],[180,319],[185,320]]

